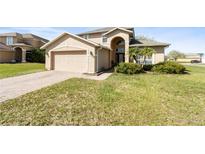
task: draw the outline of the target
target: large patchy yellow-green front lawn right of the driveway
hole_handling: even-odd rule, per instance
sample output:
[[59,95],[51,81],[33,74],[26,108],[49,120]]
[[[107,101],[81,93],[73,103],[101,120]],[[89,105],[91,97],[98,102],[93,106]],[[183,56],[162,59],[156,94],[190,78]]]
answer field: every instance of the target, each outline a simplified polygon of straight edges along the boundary
[[1,125],[205,125],[205,68],[70,79],[0,105]]

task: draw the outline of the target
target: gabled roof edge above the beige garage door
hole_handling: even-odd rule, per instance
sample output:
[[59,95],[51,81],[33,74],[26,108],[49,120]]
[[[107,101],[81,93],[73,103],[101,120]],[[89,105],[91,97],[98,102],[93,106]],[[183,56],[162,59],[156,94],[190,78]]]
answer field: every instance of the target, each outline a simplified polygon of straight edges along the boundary
[[88,43],[88,44],[91,44],[91,45],[95,46],[95,47],[102,47],[102,48],[108,49],[108,47],[102,46],[102,45],[100,45],[100,44],[98,44],[98,43],[95,43],[95,42],[93,42],[93,41],[90,41],[90,40],[86,40],[86,39],[84,39],[84,38],[82,38],[82,37],[80,37],[80,36],[77,36],[77,35],[74,35],[74,34],[71,34],[71,33],[63,33],[63,34],[59,35],[59,36],[56,37],[55,39],[53,39],[53,40],[51,40],[50,42],[48,42],[48,43],[46,43],[45,45],[43,45],[43,46],[41,47],[41,49],[46,49],[49,45],[51,45],[52,43],[56,42],[57,40],[59,40],[60,38],[66,36],[66,35],[72,36],[72,37],[77,38],[77,39],[79,39],[79,40],[82,40],[82,41],[84,41],[84,42],[86,42],[86,43]]

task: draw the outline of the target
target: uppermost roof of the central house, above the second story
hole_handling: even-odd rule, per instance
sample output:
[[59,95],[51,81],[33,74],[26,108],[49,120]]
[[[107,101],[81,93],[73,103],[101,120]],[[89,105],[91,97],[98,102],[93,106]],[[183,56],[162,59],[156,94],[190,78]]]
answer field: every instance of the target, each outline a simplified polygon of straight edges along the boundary
[[[98,29],[95,29],[95,30],[80,33],[78,35],[94,34],[94,33],[105,33],[105,32],[108,32],[108,31],[114,29],[114,28],[116,28],[116,27],[98,28]],[[123,28],[123,29],[126,29],[126,30],[131,30],[131,31],[134,29],[133,27],[119,27],[119,28]]]

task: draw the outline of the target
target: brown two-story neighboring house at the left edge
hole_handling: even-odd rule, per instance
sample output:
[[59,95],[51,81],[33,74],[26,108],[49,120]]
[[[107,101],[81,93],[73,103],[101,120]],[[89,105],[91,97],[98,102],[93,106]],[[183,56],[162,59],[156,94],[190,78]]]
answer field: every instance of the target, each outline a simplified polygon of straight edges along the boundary
[[47,42],[48,40],[33,34],[0,34],[0,62],[25,62],[26,52],[40,48]]

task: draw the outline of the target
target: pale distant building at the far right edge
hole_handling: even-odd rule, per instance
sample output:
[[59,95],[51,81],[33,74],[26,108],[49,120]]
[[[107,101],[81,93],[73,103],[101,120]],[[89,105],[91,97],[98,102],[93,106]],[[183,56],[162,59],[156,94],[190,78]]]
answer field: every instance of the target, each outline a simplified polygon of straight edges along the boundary
[[203,53],[186,53],[184,58],[178,58],[177,62],[191,63],[192,61],[202,63]]

